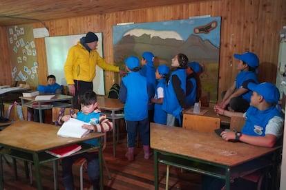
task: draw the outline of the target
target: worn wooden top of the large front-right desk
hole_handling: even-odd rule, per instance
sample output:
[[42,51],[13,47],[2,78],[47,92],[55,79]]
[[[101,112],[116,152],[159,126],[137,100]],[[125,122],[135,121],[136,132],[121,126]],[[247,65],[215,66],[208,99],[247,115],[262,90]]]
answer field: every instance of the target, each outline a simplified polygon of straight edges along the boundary
[[151,148],[234,167],[275,151],[242,142],[227,142],[220,136],[180,127],[151,123]]

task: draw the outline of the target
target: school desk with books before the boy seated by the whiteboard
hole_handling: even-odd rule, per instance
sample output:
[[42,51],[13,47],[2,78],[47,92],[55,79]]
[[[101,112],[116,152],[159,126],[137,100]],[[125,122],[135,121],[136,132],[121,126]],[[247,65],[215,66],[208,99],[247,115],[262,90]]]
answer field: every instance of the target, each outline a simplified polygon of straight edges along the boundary
[[[45,95],[45,94],[39,94],[39,95]],[[49,94],[46,94],[49,95]],[[43,117],[41,110],[44,109],[52,109],[53,107],[73,107],[73,96],[68,96],[64,94],[55,94],[53,98],[50,100],[35,100],[36,96],[32,97],[23,97],[21,98],[21,105],[30,107],[32,109],[38,109],[39,110],[39,122],[43,123]],[[64,103],[64,101],[70,101],[70,103]],[[32,107],[32,103],[38,103],[39,106]],[[50,103],[50,106],[44,107],[44,103]]]

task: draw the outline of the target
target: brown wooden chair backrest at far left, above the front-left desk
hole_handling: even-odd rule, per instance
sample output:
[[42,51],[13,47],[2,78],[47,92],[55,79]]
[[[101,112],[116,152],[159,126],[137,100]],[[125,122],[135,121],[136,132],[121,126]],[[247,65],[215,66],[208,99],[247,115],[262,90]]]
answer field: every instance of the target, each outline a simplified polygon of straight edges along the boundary
[[8,116],[9,120],[21,120],[21,115],[23,116],[23,120],[28,120],[28,107],[18,105],[17,103],[13,103],[11,105],[4,104],[4,113],[5,117]]

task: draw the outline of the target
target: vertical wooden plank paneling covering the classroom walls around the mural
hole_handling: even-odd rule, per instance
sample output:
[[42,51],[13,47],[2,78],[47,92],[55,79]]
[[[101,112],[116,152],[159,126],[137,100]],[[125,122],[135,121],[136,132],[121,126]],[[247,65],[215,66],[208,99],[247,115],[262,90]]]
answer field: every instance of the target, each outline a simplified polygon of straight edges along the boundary
[[[188,19],[189,17],[210,14],[212,17],[222,17],[220,36],[220,71],[218,94],[227,89],[234,81],[236,74],[236,59],[234,53],[242,53],[247,50],[258,54],[261,63],[277,64],[278,56],[278,32],[286,25],[285,0],[242,0],[242,1],[196,1],[173,6],[160,6],[140,10],[128,10],[108,14],[90,15],[87,17],[74,17],[45,21],[50,36],[82,34],[88,31],[103,32],[104,59],[113,64],[113,36],[112,27],[116,23],[143,23],[154,21],[168,21]],[[34,28],[41,28],[41,23],[33,23]],[[37,26],[37,27],[36,27]],[[0,39],[6,40],[6,29],[0,29]],[[39,62],[46,64],[46,52],[44,43],[36,40],[37,55],[41,56]],[[0,47],[0,56],[8,58],[6,48]],[[9,65],[9,61],[5,61]],[[1,60],[1,63],[2,60]],[[10,66],[5,65],[5,70]],[[44,66],[45,67],[45,66]],[[261,69],[261,68],[260,68]],[[42,72],[45,69],[39,68]],[[267,70],[266,70],[267,71]],[[47,72],[47,70],[46,70]],[[10,77],[10,72],[6,78]],[[105,72],[106,92],[114,83],[117,74]],[[275,74],[266,72],[264,76],[274,78]],[[0,79],[2,76],[0,76]],[[41,78],[43,77],[43,78]],[[227,78],[227,80],[225,80]],[[6,79],[3,78],[5,81]],[[1,80],[1,81],[3,81]],[[268,79],[267,79],[268,80]],[[46,76],[39,76],[39,81],[46,81]]]

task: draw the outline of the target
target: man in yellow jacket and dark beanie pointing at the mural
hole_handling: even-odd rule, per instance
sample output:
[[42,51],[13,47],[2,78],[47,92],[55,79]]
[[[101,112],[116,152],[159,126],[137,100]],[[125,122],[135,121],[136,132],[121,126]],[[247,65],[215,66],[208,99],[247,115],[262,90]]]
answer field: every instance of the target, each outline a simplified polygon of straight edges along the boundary
[[119,67],[106,63],[99,56],[97,47],[98,37],[93,32],[88,32],[82,37],[77,45],[70,47],[68,57],[64,65],[64,74],[70,94],[74,96],[74,106],[80,109],[79,96],[86,90],[93,90],[93,78],[95,78],[96,65],[102,67],[103,70],[120,72],[124,71]]

